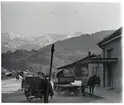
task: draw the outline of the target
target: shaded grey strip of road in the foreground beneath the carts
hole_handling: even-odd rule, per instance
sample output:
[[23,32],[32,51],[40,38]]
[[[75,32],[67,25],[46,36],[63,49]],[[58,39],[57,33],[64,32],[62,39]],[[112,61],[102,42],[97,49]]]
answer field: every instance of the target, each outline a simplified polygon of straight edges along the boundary
[[[89,103],[93,100],[101,100],[104,99],[103,97],[96,96],[96,95],[89,95],[86,94],[86,96],[82,96],[82,94],[75,96],[74,94],[71,94],[68,96],[66,93],[64,94],[55,94],[53,96],[53,99],[49,98],[50,103]],[[26,100],[26,97],[24,95],[23,91],[17,91],[15,93],[5,93],[2,94],[2,103],[43,103],[43,100],[40,99],[32,99],[31,102],[28,102]]]

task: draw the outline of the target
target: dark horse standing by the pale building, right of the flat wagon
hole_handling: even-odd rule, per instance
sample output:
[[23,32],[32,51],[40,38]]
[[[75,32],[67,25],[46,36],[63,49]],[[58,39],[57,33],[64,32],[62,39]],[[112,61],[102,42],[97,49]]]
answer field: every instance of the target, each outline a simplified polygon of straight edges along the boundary
[[100,82],[100,77],[97,77],[96,75],[93,75],[88,79],[87,87],[89,86],[90,95],[94,94],[94,87],[95,85],[100,86]]

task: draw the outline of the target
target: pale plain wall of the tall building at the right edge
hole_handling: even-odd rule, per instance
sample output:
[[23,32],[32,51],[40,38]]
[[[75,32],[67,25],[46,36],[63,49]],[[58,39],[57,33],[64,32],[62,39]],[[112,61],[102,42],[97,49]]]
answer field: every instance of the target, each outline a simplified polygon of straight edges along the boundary
[[[105,57],[107,58],[107,50],[113,48],[113,53],[111,58],[118,58],[117,63],[112,64],[113,72],[113,87],[117,90],[122,89],[122,47],[121,38],[114,40],[103,46],[105,49]],[[106,86],[107,86],[107,65],[105,67],[106,72]]]

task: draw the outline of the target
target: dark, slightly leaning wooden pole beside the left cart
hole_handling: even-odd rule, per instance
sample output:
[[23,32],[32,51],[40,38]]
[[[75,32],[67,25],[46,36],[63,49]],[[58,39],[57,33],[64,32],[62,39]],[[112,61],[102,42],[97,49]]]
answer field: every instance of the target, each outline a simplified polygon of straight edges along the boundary
[[51,71],[52,71],[52,63],[53,63],[53,53],[54,53],[54,44],[52,44],[51,47],[51,61],[50,61],[50,71],[49,71],[49,80],[47,82],[47,92],[46,92],[46,100],[44,103],[48,103],[48,97],[49,97],[49,88],[50,88],[50,79],[51,79]]

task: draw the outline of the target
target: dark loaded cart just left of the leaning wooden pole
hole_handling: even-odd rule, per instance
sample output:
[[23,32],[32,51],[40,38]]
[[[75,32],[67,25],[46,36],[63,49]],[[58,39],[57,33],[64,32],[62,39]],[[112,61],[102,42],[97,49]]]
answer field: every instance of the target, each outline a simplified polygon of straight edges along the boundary
[[24,94],[28,102],[31,102],[32,99],[41,99],[46,98],[45,92],[47,83],[45,79],[40,77],[26,77],[23,83]]

